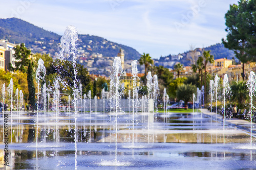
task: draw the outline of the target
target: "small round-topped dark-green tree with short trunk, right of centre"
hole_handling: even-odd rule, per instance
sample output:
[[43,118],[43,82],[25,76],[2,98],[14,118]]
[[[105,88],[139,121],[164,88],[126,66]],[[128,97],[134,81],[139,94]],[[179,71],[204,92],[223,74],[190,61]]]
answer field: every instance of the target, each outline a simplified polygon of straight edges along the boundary
[[187,103],[193,101],[193,93],[197,93],[197,87],[191,84],[182,84],[177,88],[177,98],[178,100],[183,100],[185,109],[187,109]]

